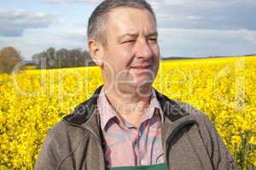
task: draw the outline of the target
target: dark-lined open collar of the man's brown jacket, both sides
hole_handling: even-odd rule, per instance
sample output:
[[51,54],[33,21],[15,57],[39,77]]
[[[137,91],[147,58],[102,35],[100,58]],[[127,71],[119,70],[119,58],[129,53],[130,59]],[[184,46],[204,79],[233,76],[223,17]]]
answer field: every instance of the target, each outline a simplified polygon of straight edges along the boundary
[[[102,86],[96,89],[93,96],[84,103],[78,105],[73,113],[65,116],[62,121],[67,122],[75,127],[89,129],[96,137],[101,138],[102,132],[100,128],[99,111],[97,109],[97,99],[102,90]],[[155,89],[154,89],[155,90]],[[162,132],[164,133],[164,141],[166,141],[167,133],[171,133],[176,127],[180,127],[183,122],[195,122],[195,118],[185,111],[179,103],[167,98],[164,94],[160,94],[155,90],[157,99],[160,102],[165,121],[163,122]],[[97,126],[95,126],[95,124]],[[163,142],[164,142],[163,141]]]

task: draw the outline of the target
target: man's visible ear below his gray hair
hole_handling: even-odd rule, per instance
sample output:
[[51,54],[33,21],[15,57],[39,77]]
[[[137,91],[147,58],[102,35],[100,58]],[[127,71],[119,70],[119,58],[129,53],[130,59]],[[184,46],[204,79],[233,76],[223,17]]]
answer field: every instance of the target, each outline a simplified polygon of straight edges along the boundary
[[96,63],[96,65],[102,66],[104,54],[102,44],[92,39],[88,42],[88,47],[91,59]]

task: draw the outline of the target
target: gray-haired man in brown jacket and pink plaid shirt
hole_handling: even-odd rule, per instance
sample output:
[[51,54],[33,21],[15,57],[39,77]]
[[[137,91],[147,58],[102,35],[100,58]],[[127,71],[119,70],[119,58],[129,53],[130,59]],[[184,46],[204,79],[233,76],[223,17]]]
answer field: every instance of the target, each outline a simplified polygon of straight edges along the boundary
[[88,46],[104,85],[53,127],[36,169],[234,169],[207,116],[152,88],[160,60],[154,11],[106,0],[90,16]]

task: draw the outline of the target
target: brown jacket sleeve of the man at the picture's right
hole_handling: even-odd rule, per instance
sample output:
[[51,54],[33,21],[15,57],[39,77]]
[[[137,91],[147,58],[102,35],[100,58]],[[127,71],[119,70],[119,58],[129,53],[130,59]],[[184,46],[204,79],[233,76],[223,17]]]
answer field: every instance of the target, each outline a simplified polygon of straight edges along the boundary
[[207,131],[212,139],[212,164],[215,170],[234,170],[235,163],[230,156],[229,150],[227,150],[224,142],[220,138],[216,128],[214,127],[212,121],[208,118],[207,115],[201,113],[203,117],[205,127],[207,127]]

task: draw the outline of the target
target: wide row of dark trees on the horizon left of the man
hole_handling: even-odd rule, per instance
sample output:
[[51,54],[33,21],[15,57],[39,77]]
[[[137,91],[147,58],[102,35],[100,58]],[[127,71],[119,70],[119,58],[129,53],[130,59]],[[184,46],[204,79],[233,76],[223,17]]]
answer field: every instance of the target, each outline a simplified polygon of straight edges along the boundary
[[48,48],[39,54],[34,54],[32,60],[38,69],[54,69],[95,65],[87,51],[80,48],[66,49]]

